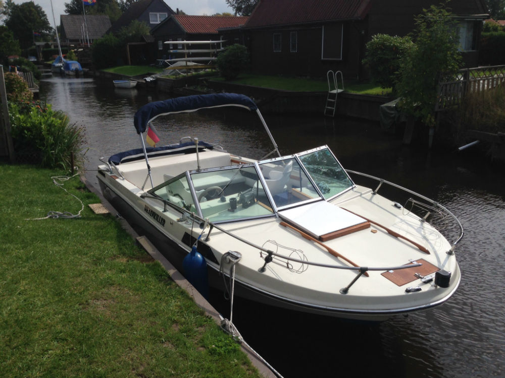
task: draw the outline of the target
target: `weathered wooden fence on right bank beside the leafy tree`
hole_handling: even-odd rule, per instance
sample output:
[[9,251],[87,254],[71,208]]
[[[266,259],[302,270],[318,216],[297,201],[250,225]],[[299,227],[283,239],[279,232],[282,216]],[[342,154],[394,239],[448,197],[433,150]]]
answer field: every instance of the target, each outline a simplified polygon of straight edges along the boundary
[[461,70],[455,80],[440,82],[435,111],[459,105],[467,93],[482,92],[505,82],[505,66],[477,67]]

